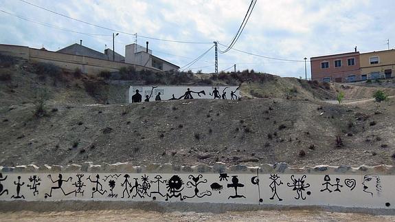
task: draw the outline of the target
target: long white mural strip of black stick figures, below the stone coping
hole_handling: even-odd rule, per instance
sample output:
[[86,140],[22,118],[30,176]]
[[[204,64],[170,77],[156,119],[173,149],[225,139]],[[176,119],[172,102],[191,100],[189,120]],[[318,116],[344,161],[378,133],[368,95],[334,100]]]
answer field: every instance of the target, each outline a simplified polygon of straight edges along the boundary
[[[127,200],[394,208],[391,175],[0,173],[0,200]],[[86,192],[89,195],[86,195]]]

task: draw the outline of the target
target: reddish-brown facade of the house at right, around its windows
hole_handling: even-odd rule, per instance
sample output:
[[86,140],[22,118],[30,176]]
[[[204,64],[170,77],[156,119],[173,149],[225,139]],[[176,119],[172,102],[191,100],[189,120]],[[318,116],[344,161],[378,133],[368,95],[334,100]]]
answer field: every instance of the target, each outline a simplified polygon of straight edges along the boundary
[[[354,65],[348,65],[348,58],[354,58]],[[311,58],[312,80],[322,82],[323,78],[331,78],[332,82],[336,79],[347,82],[348,76],[352,75],[356,77],[355,80],[360,80],[359,58],[359,52]],[[335,60],[341,60],[341,67],[335,67]],[[321,63],[323,62],[328,62],[329,67],[322,69]]]

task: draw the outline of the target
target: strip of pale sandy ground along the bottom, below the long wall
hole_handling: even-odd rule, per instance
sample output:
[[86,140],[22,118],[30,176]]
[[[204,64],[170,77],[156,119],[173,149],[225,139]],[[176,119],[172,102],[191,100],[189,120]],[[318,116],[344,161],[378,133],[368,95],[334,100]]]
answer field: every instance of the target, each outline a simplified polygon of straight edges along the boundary
[[147,212],[143,210],[100,210],[79,212],[7,212],[0,221],[394,221],[395,216],[325,212],[318,210],[265,210],[226,212]]

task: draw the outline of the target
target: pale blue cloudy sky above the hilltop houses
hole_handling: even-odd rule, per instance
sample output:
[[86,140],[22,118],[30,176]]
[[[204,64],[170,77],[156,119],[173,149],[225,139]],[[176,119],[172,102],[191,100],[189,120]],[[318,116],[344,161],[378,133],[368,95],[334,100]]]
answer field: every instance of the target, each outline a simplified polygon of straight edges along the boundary
[[[245,17],[250,0],[24,0],[48,10],[120,33],[115,51],[149,41],[153,54],[183,67],[212,47],[227,45]],[[74,43],[103,52],[113,31],[68,19],[21,0],[0,0],[0,44],[56,51]],[[304,58],[395,47],[394,0],[258,0],[234,49],[218,52],[218,71],[253,69],[278,76],[305,76]],[[19,17],[18,17],[19,16]],[[20,17],[29,21],[23,20]],[[32,22],[33,21],[33,22]],[[38,24],[39,23],[39,24]],[[72,31],[72,32],[71,32]],[[128,34],[125,34],[128,33]],[[174,43],[147,39],[161,38]],[[199,42],[199,43],[196,43]],[[218,45],[219,50],[225,47]],[[230,68],[232,67],[232,68]],[[230,68],[230,69],[228,69]],[[190,66],[214,72],[214,48]],[[311,75],[307,63],[307,76]]]

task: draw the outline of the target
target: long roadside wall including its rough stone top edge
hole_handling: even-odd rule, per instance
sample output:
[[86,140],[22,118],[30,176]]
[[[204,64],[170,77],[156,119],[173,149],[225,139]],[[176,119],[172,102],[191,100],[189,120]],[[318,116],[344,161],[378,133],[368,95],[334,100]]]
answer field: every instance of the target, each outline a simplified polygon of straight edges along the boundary
[[[131,164],[1,167],[0,201],[168,201],[395,208],[394,166]],[[61,181],[61,182],[59,182]],[[21,202],[23,204],[23,202]]]

